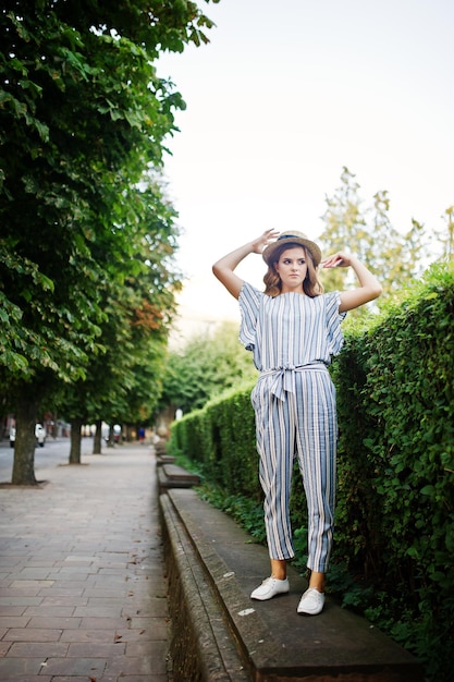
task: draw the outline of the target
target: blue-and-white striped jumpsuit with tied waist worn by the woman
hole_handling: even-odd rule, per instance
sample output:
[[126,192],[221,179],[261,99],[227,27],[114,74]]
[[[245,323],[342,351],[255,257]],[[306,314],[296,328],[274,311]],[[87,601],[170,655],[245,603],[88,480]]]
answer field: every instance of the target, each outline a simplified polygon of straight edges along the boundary
[[240,340],[260,372],[251,402],[269,553],[295,556],[289,508],[297,455],[308,508],[307,565],[321,573],[334,524],[338,419],[328,365],[343,343],[339,305],[338,291],[271,297],[245,282],[240,294]]

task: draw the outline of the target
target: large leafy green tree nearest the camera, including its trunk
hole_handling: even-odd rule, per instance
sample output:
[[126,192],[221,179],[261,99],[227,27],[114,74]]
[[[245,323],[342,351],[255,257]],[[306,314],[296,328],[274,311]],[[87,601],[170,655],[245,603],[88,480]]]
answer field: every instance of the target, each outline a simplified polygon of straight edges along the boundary
[[103,351],[115,263],[135,255],[136,187],[184,107],[154,61],[211,25],[182,0],[2,3],[0,382],[17,417],[15,484],[35,483],[30,415]]

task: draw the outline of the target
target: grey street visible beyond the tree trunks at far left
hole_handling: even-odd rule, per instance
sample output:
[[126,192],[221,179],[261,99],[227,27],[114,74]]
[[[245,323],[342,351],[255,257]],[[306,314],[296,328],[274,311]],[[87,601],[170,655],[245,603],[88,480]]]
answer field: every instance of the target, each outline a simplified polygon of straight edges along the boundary
[[[53,468],[60,464],[68,464],[70,459],[70,439],[69,438],[47,438],[44,448],[35,448],[35,476],[37,480],[46,479],[46,470]],[[102,448],[103,452],[108,451],[107,446]],[[86,437],[82,439],[82,456],[91,454],[93,438]],[[14,448],[10,448],[9,440],[0,441],[0,484],[11,483],[13,471]]]

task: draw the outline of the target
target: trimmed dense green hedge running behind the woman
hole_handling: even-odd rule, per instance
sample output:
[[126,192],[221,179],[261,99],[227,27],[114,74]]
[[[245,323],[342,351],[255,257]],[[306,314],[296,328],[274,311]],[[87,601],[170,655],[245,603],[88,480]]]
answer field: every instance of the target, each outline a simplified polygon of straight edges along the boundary
[[[347,327],[332,365],[340,424],[333,563],[357,575],[360,604],[427,665],[454,662],[454,268],[424,280],[372,319]],[[171,449],[228,495],[261,500],[247,387],[172,427]],[[299,476],[293,524],[306,526]],[[360,600],[359,600],[360,601]]]

